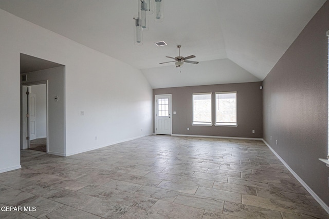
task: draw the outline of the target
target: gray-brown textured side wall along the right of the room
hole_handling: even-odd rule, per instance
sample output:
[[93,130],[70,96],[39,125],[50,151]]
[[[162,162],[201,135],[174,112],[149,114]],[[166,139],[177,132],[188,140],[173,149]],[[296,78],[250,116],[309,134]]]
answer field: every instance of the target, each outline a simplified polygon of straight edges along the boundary
[[326,2],[263,81],[264,140],[327,205],[328,15]]

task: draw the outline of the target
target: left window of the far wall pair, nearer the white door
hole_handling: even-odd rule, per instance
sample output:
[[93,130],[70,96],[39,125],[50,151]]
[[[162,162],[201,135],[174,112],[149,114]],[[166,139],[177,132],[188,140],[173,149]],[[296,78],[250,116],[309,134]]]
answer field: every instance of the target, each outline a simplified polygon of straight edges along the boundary
[[212,125],[211,95],[212,93],[193,93],[192,125]]

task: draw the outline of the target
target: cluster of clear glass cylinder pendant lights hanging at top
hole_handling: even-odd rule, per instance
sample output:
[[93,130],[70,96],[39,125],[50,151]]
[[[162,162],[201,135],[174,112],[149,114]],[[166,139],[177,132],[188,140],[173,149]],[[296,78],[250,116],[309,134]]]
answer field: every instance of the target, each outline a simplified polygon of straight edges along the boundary
[[[148,14],[153,14],[156,22],[163,21],[163,0],[137,0],[137,16],[134,17],[134,44],[143,45],[143,31],[149,30]],[[153,7],[151,6],[153,4]]]

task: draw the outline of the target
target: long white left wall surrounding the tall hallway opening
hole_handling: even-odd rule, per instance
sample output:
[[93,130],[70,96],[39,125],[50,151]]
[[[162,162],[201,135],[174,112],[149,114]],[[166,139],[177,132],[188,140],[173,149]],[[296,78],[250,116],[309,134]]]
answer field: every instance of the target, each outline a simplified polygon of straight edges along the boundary
[[0,172],[20,168],[20,53],[65,65],[65,155],[152,134],[140,70],[6,11],[0,21]]

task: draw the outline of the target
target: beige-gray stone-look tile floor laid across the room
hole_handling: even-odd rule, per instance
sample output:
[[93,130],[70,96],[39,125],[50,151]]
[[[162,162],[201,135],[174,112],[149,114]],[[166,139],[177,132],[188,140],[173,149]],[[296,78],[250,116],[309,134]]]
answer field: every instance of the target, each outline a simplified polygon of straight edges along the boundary
[[152,135],[69,157],[21,151],[0,218],[329,218],[262,141]]

